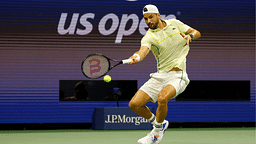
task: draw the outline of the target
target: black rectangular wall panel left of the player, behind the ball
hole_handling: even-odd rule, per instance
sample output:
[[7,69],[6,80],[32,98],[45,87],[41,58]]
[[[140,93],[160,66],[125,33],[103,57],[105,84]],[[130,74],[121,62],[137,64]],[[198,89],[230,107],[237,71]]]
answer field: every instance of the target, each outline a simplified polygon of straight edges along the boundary
[[[129,101],[137,92],[138,87],[136,80],[112,80],[108,83],[103,80],[60,80],[60,91],[64,94],[63,98],[61,98],[60,94],[60,100],[72,100],[65,98],[74,96],[75,85],[80,83],[84,85],[90,101]],[[119,89],[120,92],[118,93],[114,88]],[[84,99],[77,100],[83,101]]]

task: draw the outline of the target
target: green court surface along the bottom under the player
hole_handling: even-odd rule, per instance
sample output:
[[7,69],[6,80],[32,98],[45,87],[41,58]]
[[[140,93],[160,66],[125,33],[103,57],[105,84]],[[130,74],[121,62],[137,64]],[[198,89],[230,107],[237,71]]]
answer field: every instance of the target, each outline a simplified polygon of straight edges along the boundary
[[[0,131],[0,144],[136,144],[149,130]],[[169,128],[161,144],[255,144],[252,128]]]

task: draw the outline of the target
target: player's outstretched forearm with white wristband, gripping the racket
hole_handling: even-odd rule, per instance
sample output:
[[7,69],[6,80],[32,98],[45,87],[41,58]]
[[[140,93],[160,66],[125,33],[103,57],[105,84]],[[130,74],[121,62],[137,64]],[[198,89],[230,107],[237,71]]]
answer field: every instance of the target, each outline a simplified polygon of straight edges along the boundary
[[[133,61],[129,63],[130,65],[136,64],[139,61],[142,61],[149,53],[149,48],[147,46],[141,46],[140,50],[135,52],[129,59],[132,59]],[[138,60],[139,58],[139,60]]]

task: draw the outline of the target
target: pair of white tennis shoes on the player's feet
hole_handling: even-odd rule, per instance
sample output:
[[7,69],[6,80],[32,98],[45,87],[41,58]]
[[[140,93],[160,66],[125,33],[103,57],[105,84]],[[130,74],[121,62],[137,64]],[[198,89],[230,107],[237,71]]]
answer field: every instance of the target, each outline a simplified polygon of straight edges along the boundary
[[153,126],[153,130],[147,134],[147,136],[138,140],[139,144],[159,144],[164,136],[164,131],[168,128],[169,122],[164,120],[159,135],[154,135],[155,126]]

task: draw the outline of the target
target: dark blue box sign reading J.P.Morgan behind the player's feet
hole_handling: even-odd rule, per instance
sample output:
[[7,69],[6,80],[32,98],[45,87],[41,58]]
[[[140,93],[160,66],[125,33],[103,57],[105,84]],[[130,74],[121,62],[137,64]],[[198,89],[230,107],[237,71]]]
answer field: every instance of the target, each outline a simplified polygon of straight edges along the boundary
[[129,108],[95,108],[92,116],[92,129],[144,130],[152,129],[152,125]]

